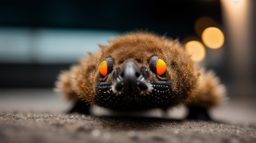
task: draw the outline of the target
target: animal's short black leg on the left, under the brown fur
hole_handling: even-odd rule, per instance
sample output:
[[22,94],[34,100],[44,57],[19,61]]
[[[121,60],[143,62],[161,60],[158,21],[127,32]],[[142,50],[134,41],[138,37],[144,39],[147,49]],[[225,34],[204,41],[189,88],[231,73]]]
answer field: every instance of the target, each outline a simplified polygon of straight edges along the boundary
[[69,110],[69,113],[72,112],[79,112],[82,114],[90,115],[90,105],[84,101],[78,101],[75,103],[75,105],[72,107],[71,110]]

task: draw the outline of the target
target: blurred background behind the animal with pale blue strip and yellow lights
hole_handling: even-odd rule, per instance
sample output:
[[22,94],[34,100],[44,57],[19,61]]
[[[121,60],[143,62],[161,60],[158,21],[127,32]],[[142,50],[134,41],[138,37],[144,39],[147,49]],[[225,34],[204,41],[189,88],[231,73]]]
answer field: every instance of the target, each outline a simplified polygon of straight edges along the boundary
[[255,9],[253,0],[1,1],[0,111],[64,111],[52,92],[57,74],[97,44],[142,30],[177,38],[220,76],[230,104],[217,118],[256,123]]

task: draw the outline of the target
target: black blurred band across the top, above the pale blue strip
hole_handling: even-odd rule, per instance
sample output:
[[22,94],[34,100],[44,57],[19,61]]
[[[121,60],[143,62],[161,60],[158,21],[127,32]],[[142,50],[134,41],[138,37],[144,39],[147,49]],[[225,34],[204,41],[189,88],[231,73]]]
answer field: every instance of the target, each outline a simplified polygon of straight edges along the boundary
[[220,1],[2,1],[0,9],[7,27],[149,29],[183,38],[200,16],[221,23]]

